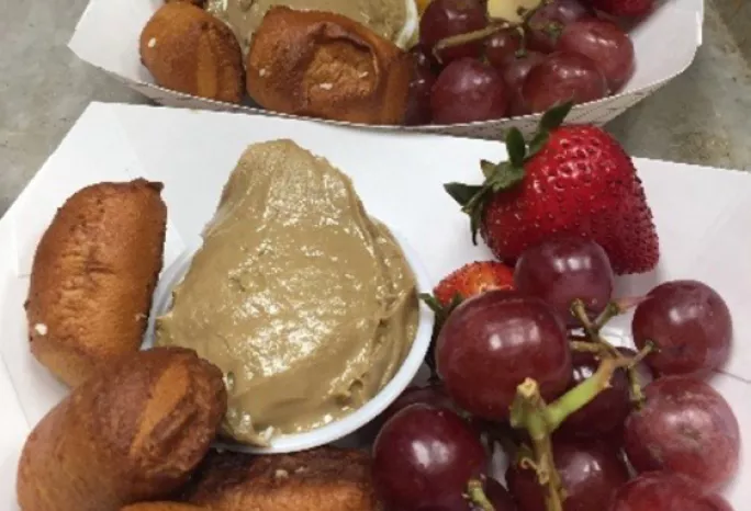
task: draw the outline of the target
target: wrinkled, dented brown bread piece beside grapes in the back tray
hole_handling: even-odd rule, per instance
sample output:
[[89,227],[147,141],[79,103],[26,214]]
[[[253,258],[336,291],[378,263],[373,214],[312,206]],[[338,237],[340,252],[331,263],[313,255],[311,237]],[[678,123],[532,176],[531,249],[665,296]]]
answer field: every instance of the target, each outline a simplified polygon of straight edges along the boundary
[[408,55],[339,14],[272,8],[253,36],[246,69],[248,94],[272,111],[367,124],[404,120]]

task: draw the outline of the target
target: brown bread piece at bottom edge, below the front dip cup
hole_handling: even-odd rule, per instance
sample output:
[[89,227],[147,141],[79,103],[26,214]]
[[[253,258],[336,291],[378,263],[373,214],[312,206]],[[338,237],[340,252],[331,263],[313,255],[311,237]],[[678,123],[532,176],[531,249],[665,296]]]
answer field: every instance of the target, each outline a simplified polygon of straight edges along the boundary
[[365,451],[320,447],[295,454],[211,453],[186,500],[212,511],[377,511]]

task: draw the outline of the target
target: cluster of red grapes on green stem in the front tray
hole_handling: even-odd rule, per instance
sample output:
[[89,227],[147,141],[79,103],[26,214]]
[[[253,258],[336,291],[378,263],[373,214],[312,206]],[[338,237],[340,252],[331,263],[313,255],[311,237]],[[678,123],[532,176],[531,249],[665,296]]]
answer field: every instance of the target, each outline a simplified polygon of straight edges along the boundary
[[[729,356],[722,298],[672,281],[613,300],[605,251],[569,236],[527,250],[514,281],[450,313],[439,378],[384,413],[373,480],[386,509],[732,511],[717,491],[739,463],[739,424],[704,381]],[[601,334],[629,307],[638,352]],[[509,458],[505,487],[491,444]]]

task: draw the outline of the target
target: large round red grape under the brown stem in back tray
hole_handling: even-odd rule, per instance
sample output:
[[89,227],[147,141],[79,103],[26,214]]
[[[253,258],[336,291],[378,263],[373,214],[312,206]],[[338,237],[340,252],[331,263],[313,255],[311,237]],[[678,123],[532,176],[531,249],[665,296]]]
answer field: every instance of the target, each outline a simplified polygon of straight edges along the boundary
[[473,58],[446,66],[433,86],[430,107],[437,124],[501,118],[507,106],[506,84],[501,73]]

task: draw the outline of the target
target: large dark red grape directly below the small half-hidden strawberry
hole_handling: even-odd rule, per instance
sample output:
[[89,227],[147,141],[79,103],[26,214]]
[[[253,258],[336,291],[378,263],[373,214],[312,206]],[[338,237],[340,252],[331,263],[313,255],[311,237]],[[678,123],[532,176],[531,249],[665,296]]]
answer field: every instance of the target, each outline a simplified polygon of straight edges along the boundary
[[542,300],[509,291],[489,291],[463,302],[436,341],[438,373],[462,409],[504,420],[526,378],[553,399],[571,379],[565,329]]

